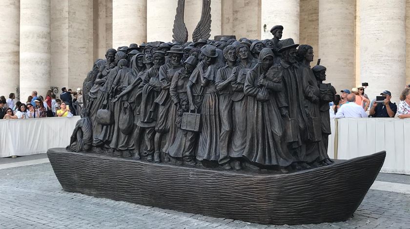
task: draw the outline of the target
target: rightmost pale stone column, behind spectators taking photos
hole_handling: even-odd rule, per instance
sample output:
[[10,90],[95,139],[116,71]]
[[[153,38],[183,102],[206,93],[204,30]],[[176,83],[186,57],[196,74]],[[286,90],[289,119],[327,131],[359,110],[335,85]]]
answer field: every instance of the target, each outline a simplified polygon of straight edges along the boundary
[[406,0],[360,0],[360,77],[370,99],[390,90],[399,102],[406,80]]

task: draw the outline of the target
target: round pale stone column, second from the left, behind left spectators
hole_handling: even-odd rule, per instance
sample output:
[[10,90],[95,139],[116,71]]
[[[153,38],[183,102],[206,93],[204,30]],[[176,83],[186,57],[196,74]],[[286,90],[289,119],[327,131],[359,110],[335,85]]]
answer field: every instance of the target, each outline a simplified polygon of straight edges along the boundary
[[[50,0],[20,0],[20,97],[50,89]],[[25,102],[25,101],[24,101]]]

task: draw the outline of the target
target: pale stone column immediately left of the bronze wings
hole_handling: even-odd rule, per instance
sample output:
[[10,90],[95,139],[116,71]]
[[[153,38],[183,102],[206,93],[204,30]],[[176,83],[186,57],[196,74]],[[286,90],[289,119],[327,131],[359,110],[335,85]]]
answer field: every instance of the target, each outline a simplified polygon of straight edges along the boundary
[[177,5],[178,0],[147,0],[147,41],[172,41],[172,28]]

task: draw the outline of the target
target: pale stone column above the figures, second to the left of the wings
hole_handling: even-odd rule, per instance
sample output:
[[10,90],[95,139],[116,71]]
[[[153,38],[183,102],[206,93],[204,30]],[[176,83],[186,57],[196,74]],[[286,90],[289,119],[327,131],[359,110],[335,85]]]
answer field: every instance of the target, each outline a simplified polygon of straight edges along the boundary
[[146,3],[147,0],[112,1],[112,43],[114,49],[146,41]]

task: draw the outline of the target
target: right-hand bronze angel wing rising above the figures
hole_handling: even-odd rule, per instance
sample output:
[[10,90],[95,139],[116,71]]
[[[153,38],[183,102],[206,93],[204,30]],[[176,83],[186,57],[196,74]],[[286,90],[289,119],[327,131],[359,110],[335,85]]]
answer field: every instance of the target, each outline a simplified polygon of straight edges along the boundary
[[192,33],[192,41],[208,39],[211,34],[211,0],[202,0],[202,15],[197,27]]

